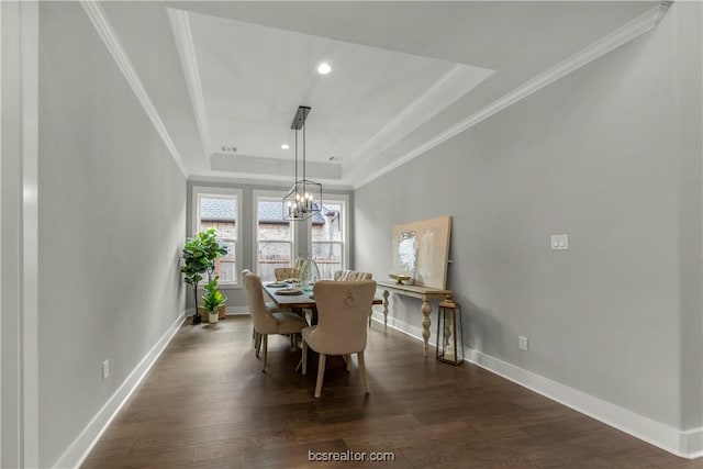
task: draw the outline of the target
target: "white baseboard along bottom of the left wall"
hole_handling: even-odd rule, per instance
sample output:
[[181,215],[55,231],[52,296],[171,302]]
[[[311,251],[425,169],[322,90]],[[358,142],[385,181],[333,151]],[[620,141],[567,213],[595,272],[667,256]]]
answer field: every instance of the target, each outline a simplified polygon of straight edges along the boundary
[[122,405],[132,395],[132,392],[156,362],[156,359],[161,355],[171,338],[174,338],[185,319],[186,312],[183,311],[52,467],[80,467],[114,416],[120,412]]

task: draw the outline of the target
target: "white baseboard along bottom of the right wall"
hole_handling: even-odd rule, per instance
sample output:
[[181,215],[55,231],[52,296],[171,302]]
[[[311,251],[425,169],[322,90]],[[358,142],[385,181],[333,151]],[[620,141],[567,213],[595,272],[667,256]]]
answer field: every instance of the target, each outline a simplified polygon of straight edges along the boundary
[[[372,319],[377,323],[383,324],[383,314],[373,313]],[[391,316],[388,317],[388,326],[422,340],[421,327],[398,321]],[[432,338],[434,338],[434,331],[429,340],[434,345]],[[685,432],[679,431],[490,355],[482,354],[479,350],[465,348],[464,356],[467,361],[492,373],[509,379],[676,456],[689,459],[703,457],[703,427]]]

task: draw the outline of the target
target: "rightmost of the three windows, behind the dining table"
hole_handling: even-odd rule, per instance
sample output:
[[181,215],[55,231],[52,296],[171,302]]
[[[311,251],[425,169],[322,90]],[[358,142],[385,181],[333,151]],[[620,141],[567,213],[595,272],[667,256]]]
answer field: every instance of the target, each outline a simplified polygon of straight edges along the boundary
[[346,196],[323,197],[322,210],[311,219],[312,257],[320,277],[332,279],[336,270],[346,268],[348,259],[348,199]]

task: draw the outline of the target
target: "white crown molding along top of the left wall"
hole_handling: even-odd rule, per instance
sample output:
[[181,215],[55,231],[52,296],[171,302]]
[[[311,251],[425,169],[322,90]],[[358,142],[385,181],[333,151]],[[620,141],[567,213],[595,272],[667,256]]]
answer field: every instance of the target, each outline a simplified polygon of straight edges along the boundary
[[183,177],[188,178],[188,169],[183,164],[178,149],[176,149],[176,145],[168,134],[168,131],[166,130],[161,118],[158,115],[158,112],[156,112],[156,108],[154,108],[154,104],[152,103],[146,89],[144,89],[142,80],[140,80],[140,77],[134,69],[132,62],[127,57],[122,43],[112,29],[110,21],[107,19],[104,11],[96,0],[81,0],[80,4],[86,11],[86,14],[88,14],[88,18],[92,22],[92,25],[98,31],[98,34],[100,34],[100,37],[108,46],[108,51],[110,51],[112,58],[114,58],[118,67],[120,67],[120,70],[122,71],[122,75],[124,75],[124,78],[127,80],[127,83],[130,83],[130,87],[132,87],[134,94],[136,94],[140,103],[142,103],[144,111],[154,124],[156,132],[164,141],[166,148],[171,154],[171,157],[174,158],[174,161],[176,161],[176,165],[180,169],[180,172],[183,175]]

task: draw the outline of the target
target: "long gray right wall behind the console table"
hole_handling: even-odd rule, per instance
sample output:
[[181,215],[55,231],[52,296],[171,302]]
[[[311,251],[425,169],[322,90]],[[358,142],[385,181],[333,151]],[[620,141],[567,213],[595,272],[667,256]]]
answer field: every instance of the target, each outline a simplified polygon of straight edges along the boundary
[[[357,267],[387,277],[393,225],[450,214],[466,345],[701,426],[700,18],[674,3],[652,32],[358,189]],[[560,233],[570,248],[551,252]],[[417,302],[394,302],[420,326]]]

